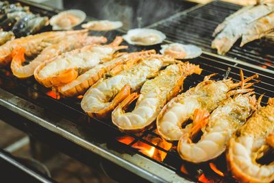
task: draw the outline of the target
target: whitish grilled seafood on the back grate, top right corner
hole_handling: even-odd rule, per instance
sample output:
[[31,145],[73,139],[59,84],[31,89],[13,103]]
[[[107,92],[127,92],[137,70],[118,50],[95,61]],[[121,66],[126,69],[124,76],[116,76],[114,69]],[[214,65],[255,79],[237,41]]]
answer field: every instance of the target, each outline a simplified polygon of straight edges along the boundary
[[274,3],[262,1],[258,5],[246,6],[228,16],[223,23],[214,30],[212,48],[219,54],[225,54],[242,37],[240,47],[247,42],[266,36],[273,31]]

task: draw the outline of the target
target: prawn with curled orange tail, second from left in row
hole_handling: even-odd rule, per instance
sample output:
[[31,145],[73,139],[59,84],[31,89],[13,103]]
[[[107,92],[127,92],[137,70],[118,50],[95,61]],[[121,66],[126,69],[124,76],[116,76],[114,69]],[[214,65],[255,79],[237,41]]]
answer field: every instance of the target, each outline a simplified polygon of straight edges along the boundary
[[73,49],[79,49],[86,45],[100,44],[106,41],[107,40],[104,37],[88,36],[87,32],[85,34],[74,34],[67,36],[64,40],[43,49],[40,55],[25,66],[22,65],[25,61],[25,48],[17,47],[12,52],[13,58],[10,67],[12,69],[12,73],[16,77],[30,77],[34,75],[34,70],[42,62],[55,58],[56,56]]

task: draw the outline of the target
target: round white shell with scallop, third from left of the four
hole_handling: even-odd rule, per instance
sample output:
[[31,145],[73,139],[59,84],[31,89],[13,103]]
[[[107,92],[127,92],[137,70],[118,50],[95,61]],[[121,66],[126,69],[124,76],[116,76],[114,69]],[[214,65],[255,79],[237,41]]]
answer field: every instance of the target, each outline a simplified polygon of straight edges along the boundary
[[131,45],[149,46],[161,43],[166,35],[155,29],[131,29],[123,38]]

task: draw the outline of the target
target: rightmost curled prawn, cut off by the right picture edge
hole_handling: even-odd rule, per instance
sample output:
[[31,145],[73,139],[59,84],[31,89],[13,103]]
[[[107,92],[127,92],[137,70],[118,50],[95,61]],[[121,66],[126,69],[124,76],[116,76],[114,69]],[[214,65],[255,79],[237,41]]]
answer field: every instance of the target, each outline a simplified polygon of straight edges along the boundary
[[274,181],[273,156],[269,164],[258,162],[274,148],[274,98],[268,104],[259,107],[229,141],[227,162],[240,182]]

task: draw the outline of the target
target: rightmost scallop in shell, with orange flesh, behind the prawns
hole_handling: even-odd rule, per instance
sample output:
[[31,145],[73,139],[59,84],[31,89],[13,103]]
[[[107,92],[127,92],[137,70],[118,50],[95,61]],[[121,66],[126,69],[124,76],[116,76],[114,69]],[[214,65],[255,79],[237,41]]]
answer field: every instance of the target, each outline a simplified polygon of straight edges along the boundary
[[180,43],[172,43],[169,45],[161,45],[160,53],[172,56],[177,59],[190,59],[201,56],[201,49],[195,45],[183,45]]

